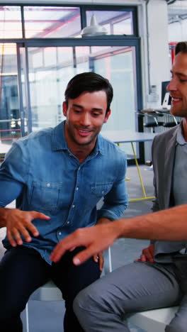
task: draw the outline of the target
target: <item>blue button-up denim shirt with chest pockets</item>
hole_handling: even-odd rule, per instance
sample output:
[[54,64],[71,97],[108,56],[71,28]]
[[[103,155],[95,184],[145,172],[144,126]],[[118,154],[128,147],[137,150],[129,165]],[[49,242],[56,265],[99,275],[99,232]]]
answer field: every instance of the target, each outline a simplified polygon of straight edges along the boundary
[[[84,162],[68,149],[64,122],[16,140],[0,168],[0,206],[16,199],[16,208],[38,211],[50,220],[35,218],[40,235],[23,245],[35,248],[48,263],[55,245],[77,228],[98,218],[120,218],[128,206],[125,153],[100,134]],[[96,204],[103,197],[103,206]],[[10,246],[8,238],[5,248]]]

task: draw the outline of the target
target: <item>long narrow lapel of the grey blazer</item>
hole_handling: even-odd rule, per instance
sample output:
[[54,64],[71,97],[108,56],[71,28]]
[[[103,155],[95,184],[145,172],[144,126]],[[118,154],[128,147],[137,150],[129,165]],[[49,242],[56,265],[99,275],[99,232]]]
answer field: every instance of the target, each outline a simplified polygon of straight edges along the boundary
[[166,155],[164,162],[164,207],[165,209],[170,206],[170,195],[171,195],[171,184],[173,177],[173,169],[174,169],[174,158],[176,151],[176,130],[174,131],[171,138],[167,141],[166,144]]

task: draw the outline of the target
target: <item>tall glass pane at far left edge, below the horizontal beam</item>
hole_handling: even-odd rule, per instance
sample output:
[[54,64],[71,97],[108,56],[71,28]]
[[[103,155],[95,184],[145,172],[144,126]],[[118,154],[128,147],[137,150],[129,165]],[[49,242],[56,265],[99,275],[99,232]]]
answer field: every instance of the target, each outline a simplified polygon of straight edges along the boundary
[[21,137],[16,44],[0,44],[0,160]]

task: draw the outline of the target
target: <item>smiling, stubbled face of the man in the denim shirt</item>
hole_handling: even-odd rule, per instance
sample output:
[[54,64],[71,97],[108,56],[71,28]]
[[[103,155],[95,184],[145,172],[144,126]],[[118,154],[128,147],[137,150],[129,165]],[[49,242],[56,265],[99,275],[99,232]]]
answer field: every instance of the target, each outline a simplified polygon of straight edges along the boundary
[[88,153],[93,150],[98,133],[103,123],[108,121],[111,114],[106,114],[107,99],[103,90],[83,92],[75,99],[68,99],[68,106],[63,103],[65,122],[65,137],[69,150],[84,148]]

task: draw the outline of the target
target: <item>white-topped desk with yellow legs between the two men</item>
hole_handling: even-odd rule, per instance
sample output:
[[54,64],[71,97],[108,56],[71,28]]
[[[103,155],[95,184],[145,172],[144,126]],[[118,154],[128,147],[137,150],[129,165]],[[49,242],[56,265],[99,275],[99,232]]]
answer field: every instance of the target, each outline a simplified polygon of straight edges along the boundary
[[135,158],[135,164],[137,167],[138,176],[140,178],[140,184],[142,187],[142,193],[143,197],[137,198],[137,199],[129,199],[129,201],[141,201],[143,199],[154,199],[154,197],[148,197],[145,192],[145,186],[142,180],[142,175],[140,172],[140,167],[137,162],[137,156],[135,154],[135,148],[133,143],[140,143],[140,142],[152,142],[153,138],[156,133],[137,133],[132,131],[101,131],[101,135],[103,137],[108,138],[109,140],[112,140],[114,143],[120,145],[120,143],[131,143],[132,146],[132,152]]

